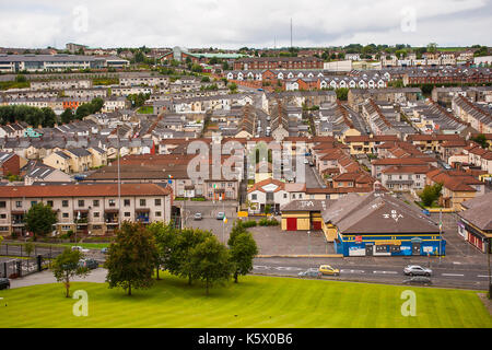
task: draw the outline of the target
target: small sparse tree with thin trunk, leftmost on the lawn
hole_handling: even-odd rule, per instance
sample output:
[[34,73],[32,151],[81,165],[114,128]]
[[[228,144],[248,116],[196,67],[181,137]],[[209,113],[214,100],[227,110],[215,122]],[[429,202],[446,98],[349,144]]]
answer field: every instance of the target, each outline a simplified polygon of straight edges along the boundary
[[80,250],[66,248],[55,261],[51,264],[52,275],[57,282],[63,282],[66,289],[66,298],[70,298],[70,280],[78,277],[85,277],[89,273],[86,267],[79,265],[79,260],[83,258]]

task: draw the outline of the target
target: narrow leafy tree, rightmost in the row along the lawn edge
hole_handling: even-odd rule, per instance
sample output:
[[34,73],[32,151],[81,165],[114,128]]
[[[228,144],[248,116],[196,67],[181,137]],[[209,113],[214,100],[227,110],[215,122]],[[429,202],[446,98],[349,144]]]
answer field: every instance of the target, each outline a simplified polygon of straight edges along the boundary
[[237,283],[239,275],[245,276],[253,270],[253,259],[258,254],[258,247],[249,232],[234,236],[233,240],[230,240],[229,246],[231,247],[231,261],[234,268],[234,283]]

